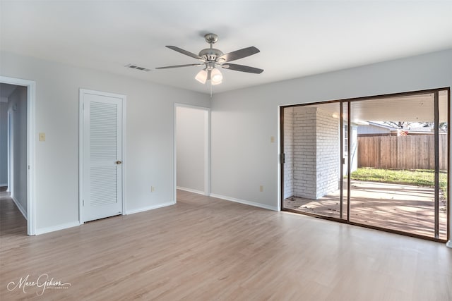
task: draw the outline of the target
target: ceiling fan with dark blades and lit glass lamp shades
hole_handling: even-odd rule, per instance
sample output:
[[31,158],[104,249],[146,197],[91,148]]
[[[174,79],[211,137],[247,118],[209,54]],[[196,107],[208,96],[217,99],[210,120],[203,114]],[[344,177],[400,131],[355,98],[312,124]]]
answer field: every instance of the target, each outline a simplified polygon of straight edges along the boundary
[[213,48],[213,44],[218,41],[218,35],[215,35],[214,33],[208,33],[207,35],[204,35],[204,39],[206,39],[206,42],[210,44],[210,48],[199,51],[199,54],[194,54],[179,47],[167,46],[169,49],[177,51],[181,54],[185,54],[186,56],[191,56],[194,59],[198,59],[199,61],[201,61],[201,63],[189,63],[186,65],[158,67],[155,69],[204,66],[203,70],[199,71],[198,74],[196,74],[195,79],[203,84],[209,81],[212,85],[218,85],[222,82],[223,77],[220,70],[218,70],[218,67],[247,73],[259,74],[263,72],[263,69],[230,63],[230,61],[243,59],[246,56],[257,54],[259,52],[259,49],[257,49],[256,47],[251,46],[244,49],[232,51],[228,54],[223,54],[220,49]]

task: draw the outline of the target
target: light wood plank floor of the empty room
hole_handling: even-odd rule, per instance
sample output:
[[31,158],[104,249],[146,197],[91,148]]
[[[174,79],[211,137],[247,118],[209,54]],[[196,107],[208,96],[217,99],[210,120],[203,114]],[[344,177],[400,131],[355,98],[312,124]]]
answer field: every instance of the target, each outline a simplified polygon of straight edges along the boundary
[[[9,231],[2,206],[0,300],[452,300],[444,244],[189,192],[177,199],[34,237]],[[41,274],[71,286],[42,297],[6,289]]]

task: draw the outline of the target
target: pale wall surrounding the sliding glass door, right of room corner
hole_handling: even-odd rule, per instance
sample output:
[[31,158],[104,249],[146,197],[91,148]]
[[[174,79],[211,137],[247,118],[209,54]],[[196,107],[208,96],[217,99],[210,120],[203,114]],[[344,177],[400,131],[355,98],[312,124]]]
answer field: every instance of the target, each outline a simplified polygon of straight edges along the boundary
[[[452,49],[448,49],[215,94],[212,193],[278,207],[279,147],[269,137],[278,136],[280,105],[451,86]],[[264,185],[263,192],[259,185]]]

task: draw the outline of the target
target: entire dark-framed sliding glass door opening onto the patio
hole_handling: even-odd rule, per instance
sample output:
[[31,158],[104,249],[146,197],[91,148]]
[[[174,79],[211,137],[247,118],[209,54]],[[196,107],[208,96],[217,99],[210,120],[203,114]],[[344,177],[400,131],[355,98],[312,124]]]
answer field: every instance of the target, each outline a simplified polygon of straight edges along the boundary
[[450,89],[281,108],[283,210],[446,242]]

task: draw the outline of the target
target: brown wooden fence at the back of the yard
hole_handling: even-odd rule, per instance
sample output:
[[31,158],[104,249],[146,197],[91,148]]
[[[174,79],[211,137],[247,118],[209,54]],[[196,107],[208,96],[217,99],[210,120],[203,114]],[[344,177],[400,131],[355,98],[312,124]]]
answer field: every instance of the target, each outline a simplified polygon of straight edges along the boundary
[[[434,169],[434,135],[358,137],[358,167]],[[447,135],[439,135],[439,169],[447,170]]]

